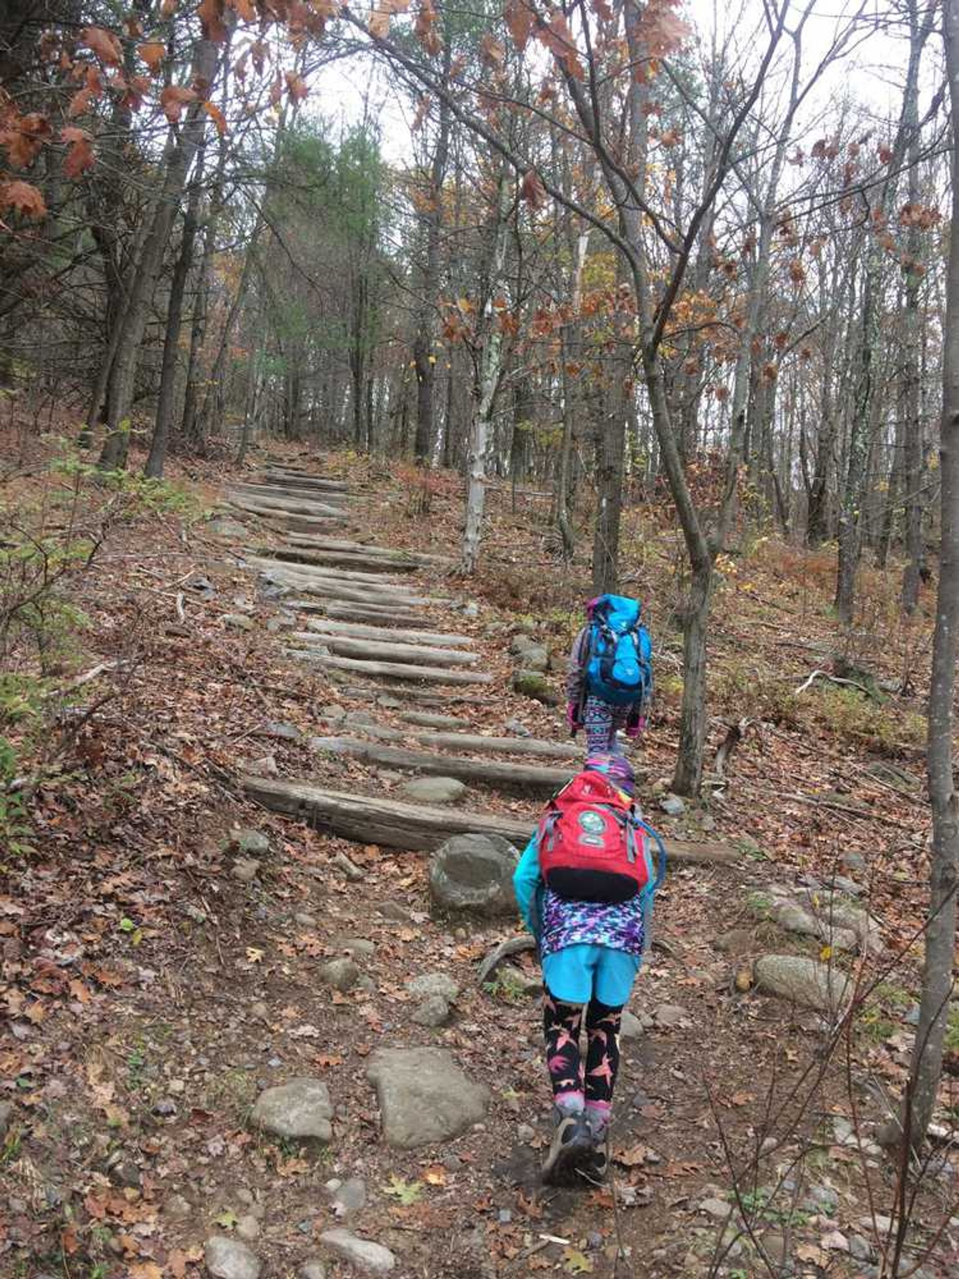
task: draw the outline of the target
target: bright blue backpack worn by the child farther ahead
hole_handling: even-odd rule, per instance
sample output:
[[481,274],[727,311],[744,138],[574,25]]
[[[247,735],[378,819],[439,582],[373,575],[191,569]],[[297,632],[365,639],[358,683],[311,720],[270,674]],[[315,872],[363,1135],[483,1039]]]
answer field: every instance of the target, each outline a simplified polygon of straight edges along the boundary
[[601,595],[593,605],[583,651],[587,693],[611,706],[642,710],[652,693],[652,641],[639,624],[642,605]]

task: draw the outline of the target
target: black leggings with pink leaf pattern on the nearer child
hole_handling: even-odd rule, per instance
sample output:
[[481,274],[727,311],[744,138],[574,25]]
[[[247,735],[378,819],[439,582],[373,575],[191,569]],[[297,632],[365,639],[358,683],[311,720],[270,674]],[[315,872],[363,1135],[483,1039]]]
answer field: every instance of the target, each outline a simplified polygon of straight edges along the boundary
[[[579,1031],[586,1012],[586,1064],[579,1051]],[[609,1114],[619,1071],[619,1023],[623,1005],[611,1008],[592,999],[588,1004],[566,1004],[549,991],[543,994],[543,1035],[546,1067],[552,1083],[552,1099],[561,1109]]]

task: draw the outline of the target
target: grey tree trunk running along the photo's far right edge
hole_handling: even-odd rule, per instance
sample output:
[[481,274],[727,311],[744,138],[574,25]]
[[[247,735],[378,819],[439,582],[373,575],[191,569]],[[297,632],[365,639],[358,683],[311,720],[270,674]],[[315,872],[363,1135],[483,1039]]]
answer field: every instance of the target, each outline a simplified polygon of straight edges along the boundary
[[[946,78],[959,119],[959,0],[945,0]],[[953,225],[959,226],[959,136],[953,130]],[[953,698],[959,654],[959,242],[949,246],[940,440],[941,519],[936,631],[932,641],[927,766],[932,804],[932,868],[919,1023],[909,1081],[909,1138],[928,1129],[942,1074],[942,1045],[953,994],[959,883],[959,797],[953,771]]]

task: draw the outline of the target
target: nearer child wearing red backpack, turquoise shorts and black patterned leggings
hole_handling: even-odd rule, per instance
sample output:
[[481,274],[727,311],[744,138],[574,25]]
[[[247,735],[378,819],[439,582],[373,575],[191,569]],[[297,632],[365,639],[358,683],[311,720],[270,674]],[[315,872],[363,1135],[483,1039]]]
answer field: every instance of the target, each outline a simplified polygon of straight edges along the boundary
[[[538,943],[543,1035],[556,1127],[543,1181],[602,1181],[619,1069],[619,1027],[639,971],[665,858],[653,874],[621,755],[589,756],[550,802],[513,885]],[[581,1031],[586,1028],[586,1058]]]

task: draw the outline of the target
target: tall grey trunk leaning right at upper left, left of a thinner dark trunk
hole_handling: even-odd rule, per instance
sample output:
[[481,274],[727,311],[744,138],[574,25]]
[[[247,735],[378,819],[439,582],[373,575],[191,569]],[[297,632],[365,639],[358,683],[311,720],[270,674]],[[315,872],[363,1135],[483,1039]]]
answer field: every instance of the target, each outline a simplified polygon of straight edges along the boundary
[[[192,81],[205,86],[208,95],[216,75],[219,47],[211,40],[201,40],[193,59]],[[129,412],[133,404],[137,366],[146,333],[153,288],[162,265],[164,251],[170,238],[170,228],[179,206],[187,173],[203,137],[206,115],[201,102],[192,102],[179,136],[171,141],[164,184],[153,212],[150,234],[130,285],[127,311],[123,318],[116,354],[110,370],[110,388],[106,403],[107,436],[100,454],[100,467],[113,469],[127,464],[129,448]]]

